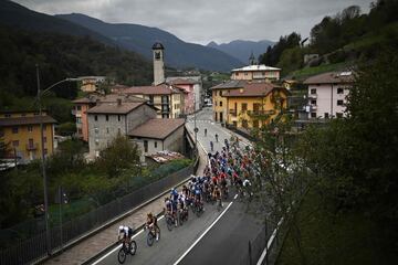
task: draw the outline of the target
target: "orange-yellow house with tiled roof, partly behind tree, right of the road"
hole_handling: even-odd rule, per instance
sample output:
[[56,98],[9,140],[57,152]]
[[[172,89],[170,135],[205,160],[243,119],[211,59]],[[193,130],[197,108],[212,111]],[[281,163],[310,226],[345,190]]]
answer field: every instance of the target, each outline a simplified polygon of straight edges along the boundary
[[261,82],[247,83],[242,88],[224,93],[227,124],[237,128],[261,128],[287,106],[289,92]]

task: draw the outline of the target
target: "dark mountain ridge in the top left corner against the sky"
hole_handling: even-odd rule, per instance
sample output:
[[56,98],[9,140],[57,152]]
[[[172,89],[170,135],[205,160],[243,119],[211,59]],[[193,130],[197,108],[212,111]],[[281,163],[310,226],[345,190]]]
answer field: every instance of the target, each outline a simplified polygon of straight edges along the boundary
[[102,43],[116,45],[111,39],[53,15],[32,11],[9,0],[0,1],[0,24],[31,31],[54,32],[76,36],[91,36]]

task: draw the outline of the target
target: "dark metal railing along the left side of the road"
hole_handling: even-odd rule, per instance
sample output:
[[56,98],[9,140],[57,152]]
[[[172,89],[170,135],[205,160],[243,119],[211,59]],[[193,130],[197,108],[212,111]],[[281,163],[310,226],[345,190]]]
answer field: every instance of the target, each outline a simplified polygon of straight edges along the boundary
[[[60,250],[63,245],[94,231],[104,223],[109,222],[116,216],[138,206],[165,190],[184,181],[198,168],[198,165],[199,159],[196,159],[196,162],[187,168],[71,220],[62,226],[52,227],[52,251]],[[9,248],[0,251],[0,264],[31,264],[46,256],[49,256],[49,254],[46,253],[45,232],[43,232],[29,240],[20,241]]]

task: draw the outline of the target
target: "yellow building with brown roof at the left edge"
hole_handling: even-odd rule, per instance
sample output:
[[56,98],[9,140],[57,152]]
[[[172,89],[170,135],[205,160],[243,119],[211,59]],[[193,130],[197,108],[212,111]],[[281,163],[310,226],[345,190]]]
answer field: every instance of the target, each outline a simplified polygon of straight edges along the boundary
[[20,162],[41,158],[40,123],[43,123],[44,155],[54,152],[55,119],[43,113],[4,112],[0,114],[0,140],[8,144],[9,157],[15,153]]

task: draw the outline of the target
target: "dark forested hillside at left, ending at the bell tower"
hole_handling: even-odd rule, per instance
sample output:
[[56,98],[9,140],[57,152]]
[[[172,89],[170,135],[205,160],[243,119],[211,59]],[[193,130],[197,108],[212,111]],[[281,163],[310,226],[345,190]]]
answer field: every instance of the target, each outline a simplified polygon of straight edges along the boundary
[[[107,76],[114,83],[151,82],[151,64],[136,53],[107,46],[90,36],[15,30],[0,26],[0,109],[27,108],[36,95],[35,64],[41,87],[85,75]],[[53,96],[72,99],[76,83],[54,87]],[[27,100],[24,100],[25,98]]]

